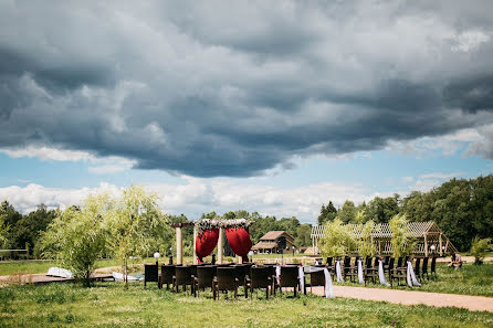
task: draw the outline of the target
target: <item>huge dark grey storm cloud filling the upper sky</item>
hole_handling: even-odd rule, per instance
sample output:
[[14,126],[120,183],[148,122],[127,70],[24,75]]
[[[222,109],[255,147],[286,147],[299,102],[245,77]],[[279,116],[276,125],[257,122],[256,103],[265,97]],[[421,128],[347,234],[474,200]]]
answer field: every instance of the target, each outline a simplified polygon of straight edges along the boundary
[[491,7],[2,2],[0,147],[248,177],[462,128],[490,140]]

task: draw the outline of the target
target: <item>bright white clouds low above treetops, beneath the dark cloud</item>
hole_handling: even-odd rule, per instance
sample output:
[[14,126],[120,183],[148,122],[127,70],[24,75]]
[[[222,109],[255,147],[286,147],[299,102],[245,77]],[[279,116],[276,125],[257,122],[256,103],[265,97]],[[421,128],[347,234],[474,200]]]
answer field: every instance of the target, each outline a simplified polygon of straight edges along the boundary
[[[157,192],[159,205],[168,213],[185,213],[189,219],[197,219],[201,213],[245,209],[258,211],[262,215],[292,216],[303,222],[316,222],[323,203],[332,200],[342,205],[346,199],[359,203],[368,201],[376,194],[355,184],[336,184],[329,182],[314,183],[298,188],[281,188],[262,184],[244,184],[244,180],[195,179],[182,177],[183,184],[147,184],[145,188]],[[40,203],[49,208],[65,209],[80,204],[90,193],[109,191],[118,194],[122,189],[114,184],[101,183],[96,188],[61,189],[39,184],[27,187],[11,186],[0,188],[0,199],[7,199],[15,209],[27,213]]]

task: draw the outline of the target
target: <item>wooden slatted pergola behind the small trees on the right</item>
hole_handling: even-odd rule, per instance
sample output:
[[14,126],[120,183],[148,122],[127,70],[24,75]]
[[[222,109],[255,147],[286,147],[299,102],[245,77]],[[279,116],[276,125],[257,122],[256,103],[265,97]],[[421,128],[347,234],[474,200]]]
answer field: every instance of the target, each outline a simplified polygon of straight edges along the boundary
[[[349,229],[353,231],[356,237],[361,236],[361,224],[348,224]],[[392,254],[392,245],[390,239],[392,237],[392,232],[388,223],[380,223],[375,225],[375,231],[371,233],[371,239],[374,245],[380,255]],[[408,231],[410,236],[417,240],[415,255],[424,255],[436,252],[443,256],[452,252],[457,253],[455,246],[449,241],[449,239],[443,234],[440,228],[434,222],[409,222]],[[312,243],[314,255],[318,253],[318,241],[324,236],[325,226],[315,225],[312,228]]]

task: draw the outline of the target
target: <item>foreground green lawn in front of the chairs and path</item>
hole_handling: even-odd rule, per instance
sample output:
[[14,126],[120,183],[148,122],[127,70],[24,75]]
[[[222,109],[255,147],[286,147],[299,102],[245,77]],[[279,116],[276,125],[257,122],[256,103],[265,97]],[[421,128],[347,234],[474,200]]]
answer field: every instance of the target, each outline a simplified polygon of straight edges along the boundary
[[[263,297],[259,293],[259,297]],[[242,296],[242,293],[240,293]],[[493,314],[316,296],[214,301],[153,284],[0,288],[0,327],[492,327]],[[230,294],[231,298],[231,294]]]

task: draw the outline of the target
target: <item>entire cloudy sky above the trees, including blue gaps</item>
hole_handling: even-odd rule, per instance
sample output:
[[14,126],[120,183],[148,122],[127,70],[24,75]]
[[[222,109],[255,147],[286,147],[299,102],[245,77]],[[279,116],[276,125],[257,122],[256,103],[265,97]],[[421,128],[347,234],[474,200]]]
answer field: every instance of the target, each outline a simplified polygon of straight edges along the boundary
[[493,173],[491,1],[0,1],[0,199],[170,214]]

